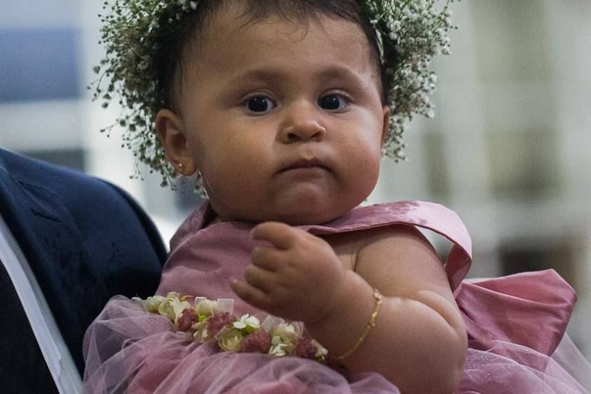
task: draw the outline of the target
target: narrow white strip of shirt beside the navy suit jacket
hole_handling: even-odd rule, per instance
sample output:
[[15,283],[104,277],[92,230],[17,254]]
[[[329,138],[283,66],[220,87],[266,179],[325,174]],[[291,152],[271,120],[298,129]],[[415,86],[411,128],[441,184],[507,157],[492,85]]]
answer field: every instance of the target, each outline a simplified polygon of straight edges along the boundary
[[0,216],[0,261],[16,289],[41,353],[61,394],[82,392],[82,381],[29,262]]

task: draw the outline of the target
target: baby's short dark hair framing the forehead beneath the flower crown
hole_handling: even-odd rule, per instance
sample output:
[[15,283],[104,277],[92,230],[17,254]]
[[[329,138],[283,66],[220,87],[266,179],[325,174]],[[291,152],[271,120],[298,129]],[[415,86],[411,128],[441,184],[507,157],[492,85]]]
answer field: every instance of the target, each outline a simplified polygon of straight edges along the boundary
[[[320,15],[351,21],[363,30],[372,49],[376,70],[380,78],[380,96],[386,105],[386,74],[380,61],[378,36],[369,17],[356,0],[202,0],[191,15],[183,18],[173,30],[163,31],[161,52],[156,58],[156,72],[160,86],[161,102],[166,108],[178,110],[178,87],[181,85],[183,61],[186,59],[188,43],[199,39],[207,26],[207,19],[227,5],[229,1],[239,1],[243,6],[241,16],[246,26],[263,21],[271,15],[281,16],[286,21],[307,24],[318,21]],[[175,59],[171,63],[171,59]],[[386,88],[386,89],[385,89]]]

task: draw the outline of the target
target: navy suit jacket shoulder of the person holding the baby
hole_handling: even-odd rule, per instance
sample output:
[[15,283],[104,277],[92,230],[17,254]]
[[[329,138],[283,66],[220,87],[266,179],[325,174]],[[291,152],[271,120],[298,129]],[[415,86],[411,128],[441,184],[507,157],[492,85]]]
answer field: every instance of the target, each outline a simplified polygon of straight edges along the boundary
[[[166,260],[158,231],[133,198],[111,183],[2,149],[0,214],[83,373],[84,332],[107,300],[156,291]],[[3,332],[11,324],[2,319]],[[19,340],[6,345],[22,346]],[[0,354],[0,370],[10,362]]]

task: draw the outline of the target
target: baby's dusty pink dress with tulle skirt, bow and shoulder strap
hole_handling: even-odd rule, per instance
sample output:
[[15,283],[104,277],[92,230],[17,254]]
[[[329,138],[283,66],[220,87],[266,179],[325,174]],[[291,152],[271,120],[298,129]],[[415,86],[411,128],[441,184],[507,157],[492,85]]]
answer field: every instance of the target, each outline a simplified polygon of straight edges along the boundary
[[[189,216],[171,240],[158,294],[169,291],[234,298],[234,313],[261,313],[237,298],[230,278],[242,278],[255,246],[253,223],[203,228],[208,204]],[[591,376],[580,353],[555,353],[576,296],[553,270],[479,283],[470,268],[468,232],[455,213],[420,201],[358,207],[335,221],[300,226],[318,236],[407,224],[452,243],[445,271],[468,329],[465,374],[456,393],[589,394]],[[561,345],[562,346],[562,345]],[[575,358],[572,358],[575,357]],[[218,350],[173,331],[167,318],[143,312],[121,296],[109,301],[84,338],[86,393],[399,393],[377,373],[346,378],[314,360]],[[585,385],[587,388],[584,388]]]

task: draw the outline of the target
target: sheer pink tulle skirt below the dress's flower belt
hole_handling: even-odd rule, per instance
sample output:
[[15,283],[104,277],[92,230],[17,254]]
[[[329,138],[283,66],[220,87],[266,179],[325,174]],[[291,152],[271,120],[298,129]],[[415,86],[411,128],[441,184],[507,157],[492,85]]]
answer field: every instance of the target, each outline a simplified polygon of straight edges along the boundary
[[[223,352],[124,297],[109,301],[84,338],[84,393],[400,393],[378,373],[347,376],[314,360]],[[497,341],[470,348],[455,393],[590,394],[591,368],[563,340],[552,358]],[[586,380],[586,381],[585,381]]]

